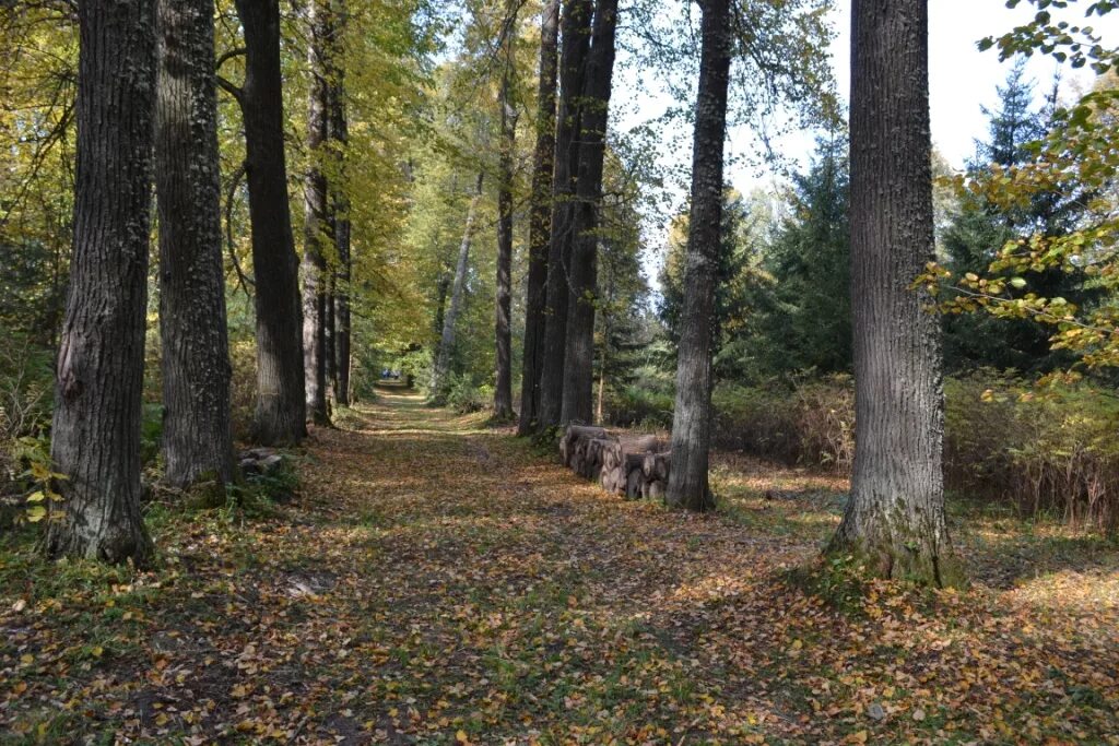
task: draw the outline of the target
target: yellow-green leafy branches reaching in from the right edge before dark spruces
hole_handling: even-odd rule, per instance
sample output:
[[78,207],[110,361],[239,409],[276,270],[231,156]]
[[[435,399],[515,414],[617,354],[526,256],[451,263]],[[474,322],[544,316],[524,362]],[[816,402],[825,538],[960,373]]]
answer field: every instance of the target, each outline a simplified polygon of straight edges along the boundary
[[[943,284],[947,298],[941,308],[948,312],[984,311],[999,319],[1029,320],[1045,329],[1053,349],[1069,350],[1078,365],[1115,367],[1119,366],[1119,308],[1113,301],[1119,287],[1119,217],[1113,209],[1119,186],[1115,159],[1119,89],[1113,68],[1119,50],[1102,44],[1089,23],[1059,16],[1081,9],[1090,19],[1116,10],[1116,3],[1032,0],[1031,4],[1038,8],[1033,21],[988,38],[980,47],[997,46],[1003,59],[1041,53],[1074,68],[1090,66],[1101,77],[1074,105],[1053,112],[1045,136],[1025,147],[1029,157],[1024,162],[1009,168],[995,164],[960,179],[958,187],[1008,214],[1046,197],[1078,195],[1080,213],[1060,230],[1035,226],[1007,242],[984,272],[960,276],[934,264],[920,282],[932,292]],[[1082,273],[1108,298],[1085,303],[1055,294],[1045,284],[1053,273]]]

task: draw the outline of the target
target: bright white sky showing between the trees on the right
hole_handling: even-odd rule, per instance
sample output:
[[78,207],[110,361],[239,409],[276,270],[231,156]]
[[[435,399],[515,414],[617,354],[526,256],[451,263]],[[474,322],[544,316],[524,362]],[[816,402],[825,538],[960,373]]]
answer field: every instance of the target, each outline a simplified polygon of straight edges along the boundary
[[[837,0],[831,13],[836,38],[829,53],[836,87],[844,101],[847,101],[850,89],[850,0]],[[965,161],[975,154],[976,138],[986,134],[987,117],[982,107],[997,103],[996,86],[1006,79],[1012,65],[1009,62],[1000,63],[995,49],[979,51],[977,43],[984,37],[999,36],[1028,21],[1035,11],[1036,8],[1028,2],[1009,9],[1005,0],[929,0],[929,107],[932,140],[933,147],[953,168],[961,169]],[[1064,15],[1054,12],[1054,18],[1082,23],[1083,10],[1064,11]],[[1106,43],[1115,44],[1119,38],[1119,18],[1097,18],[1091,25],[1103,36]],[[1038,100],[1051,91],[1057,69],[1057,64],[1046,56],[1035,55],[1028,60],[1027,76],[1036,83],[1035,95]],[[1061,68],[1061,74],[1062,88],[1065,91],[1074,79],[1087,82],[1091,75],[1068,67]],[[634,85],[634,75],[640,73],[632,67],[621,66],[618,88],[622,93],[622,101],[619,102],[617,119],[622,130],[655,119],[671,105],[667,95],[641,92],[640,86]],[[778,142],[778,150],[787,157],[803,161],[812,150],[814,138],[810,132],[787,135]],[[756,151],[758,140],[749,128],[739,126],[728,132],[727,181],[741,192],[775,183],[772,173],[735,158]],[[690,161],[690,142],[686,138],[669,142],[666,138],[661,144],[660,160],[667,166],[686,166]],[[676,185],[669,192],[670,201],[679,206],[686,193],[686,185]],[[653,236],[650,239],[652,244],[662,240]],[[647,264],[647,272],[651,274],[653,283],[657,274],[656,254],[657,252]]]

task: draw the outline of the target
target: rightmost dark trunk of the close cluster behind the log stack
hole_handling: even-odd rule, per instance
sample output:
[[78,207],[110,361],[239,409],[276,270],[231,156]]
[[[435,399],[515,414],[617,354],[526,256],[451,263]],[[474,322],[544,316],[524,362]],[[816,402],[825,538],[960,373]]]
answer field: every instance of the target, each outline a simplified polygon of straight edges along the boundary
[[594,305],[599,262],[599,207],[602,162],[614,72],[618,0],[599,0],[586,58],[580,125],[575,219],[568,277],[567,343],[564,350],[560,423],[589,423],[594,415]]

